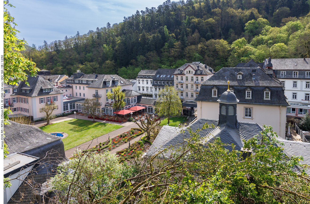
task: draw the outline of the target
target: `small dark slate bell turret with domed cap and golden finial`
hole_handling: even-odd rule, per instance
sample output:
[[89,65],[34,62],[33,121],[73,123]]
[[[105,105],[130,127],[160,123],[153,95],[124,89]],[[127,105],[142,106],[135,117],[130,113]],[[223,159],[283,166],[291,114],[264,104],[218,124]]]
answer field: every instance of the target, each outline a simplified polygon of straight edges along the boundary
[[237,103],[239,100],[236,95],[228,89],[217,100],[219,102],[219,126],[237,128]]

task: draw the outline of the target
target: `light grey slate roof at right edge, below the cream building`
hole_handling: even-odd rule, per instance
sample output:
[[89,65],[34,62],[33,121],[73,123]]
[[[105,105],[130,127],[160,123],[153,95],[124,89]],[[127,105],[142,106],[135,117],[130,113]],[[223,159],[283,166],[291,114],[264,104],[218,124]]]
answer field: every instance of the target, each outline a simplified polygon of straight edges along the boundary
[[[284,150],[284,153],[288,156],[302,156],[303,161],[300,161],[301,164],[310,165],[310,143],[308,142],[299,142],[299,141],[290,141],[283,140],[282,138],[277,138],[279,142],[284,144],[278,144]],[[306,173],[310,174],[310,168],[306,170]]]

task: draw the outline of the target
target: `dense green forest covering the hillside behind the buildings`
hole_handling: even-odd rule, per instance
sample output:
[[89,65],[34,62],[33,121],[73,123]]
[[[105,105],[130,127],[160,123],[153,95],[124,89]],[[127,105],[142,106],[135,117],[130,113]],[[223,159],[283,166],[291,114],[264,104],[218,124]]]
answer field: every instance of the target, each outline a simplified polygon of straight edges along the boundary
[[33,45],[24,55],[53,74],[79,69],[132,79],[141,69],[201,61],[217,71],[249,59],[309,57],[309,50],[305,0],[168,0],[119,24]]

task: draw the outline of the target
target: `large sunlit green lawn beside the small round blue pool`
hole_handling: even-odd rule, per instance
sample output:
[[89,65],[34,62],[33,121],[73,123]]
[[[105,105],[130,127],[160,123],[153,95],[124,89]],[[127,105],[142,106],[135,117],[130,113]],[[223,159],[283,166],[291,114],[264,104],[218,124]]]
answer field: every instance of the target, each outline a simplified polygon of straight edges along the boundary
[[64,143],[64,150],[69,150],[77,145],[92,140],[94,137],[99,137],[121,127],[123,126],[108,123],[93,123],[90,120],[72,119],[40,127],[40,129],[44,132],[68,133],[68,137],[64,138],[62,141]]

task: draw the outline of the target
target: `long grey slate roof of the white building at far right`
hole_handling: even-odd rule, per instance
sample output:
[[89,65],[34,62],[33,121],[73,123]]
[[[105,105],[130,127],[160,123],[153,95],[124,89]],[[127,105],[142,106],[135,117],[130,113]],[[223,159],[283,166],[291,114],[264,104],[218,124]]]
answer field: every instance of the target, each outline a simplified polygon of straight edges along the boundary
[[[264,67],[266,67],[267,63],[266,60]],[[271,59],[271,63],[272,69],[276,70],[310,70],[310,58]]]

